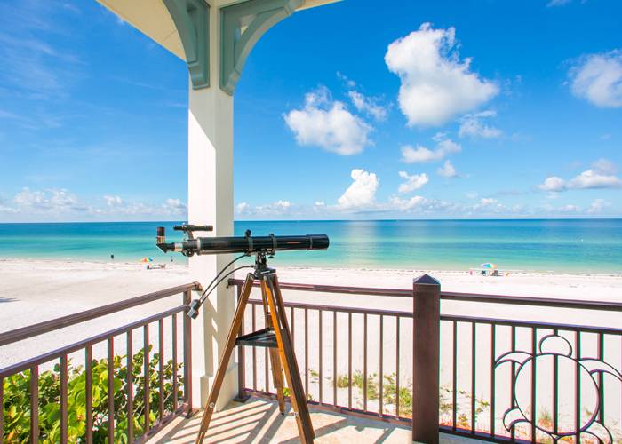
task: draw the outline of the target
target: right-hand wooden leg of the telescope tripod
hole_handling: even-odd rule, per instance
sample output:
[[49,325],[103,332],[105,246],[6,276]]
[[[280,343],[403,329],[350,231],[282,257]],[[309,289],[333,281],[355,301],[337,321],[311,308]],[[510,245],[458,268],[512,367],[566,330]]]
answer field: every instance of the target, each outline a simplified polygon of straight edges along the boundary
[[266,285],[270,315],[275,325],[275,337],[279,355],[285,369],[287,384],[291,390],[291,407],[296,415],[296,425],[298,426],[300,440],[303,444],[312,443],[314,439],[313,425],[311,424],[311,416],[309,416],[307,408],[305,391],[300,381],[298,363],[296,362],[296,356],[291,344],[291,335],[287,318],[285,317],[283,299],[276,297],[275,289],[277,289],[278,281],[273,281],[273,279],[275,280],[275,274],[264,276],[263,279],[262,284]]

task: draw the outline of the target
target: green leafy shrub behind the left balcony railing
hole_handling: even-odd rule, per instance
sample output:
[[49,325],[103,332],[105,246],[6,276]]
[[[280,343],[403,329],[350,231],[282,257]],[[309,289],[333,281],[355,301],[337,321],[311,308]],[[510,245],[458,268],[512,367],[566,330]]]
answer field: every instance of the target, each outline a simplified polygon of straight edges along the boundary
[[[149,351],[151,351],[149,346]],[[115,403],[115,442],[127,443],[127,382],[125,356],[116,355],[113,362]],[[134,436],[145,429],[145,355],[141,350],[132,356],[133,427]],[[154,424],[160,405],[160,355],[154,353],[148,362],[149,423]],[[183,377],[177,366],[179,400]],[[172,360],[164,365],[164,411],[171,412],[175,394],[172,392]],[[4,441],[28,442],[30,437],[30,370],[4,378]],[[108,360],[92,361],[92,431],[93,442],[108,442]],[[86,434],[86,371],[83,366],[68,365],[68,441],[84,442]],[[60,365],[39,375],[39,440],[60,442]]]

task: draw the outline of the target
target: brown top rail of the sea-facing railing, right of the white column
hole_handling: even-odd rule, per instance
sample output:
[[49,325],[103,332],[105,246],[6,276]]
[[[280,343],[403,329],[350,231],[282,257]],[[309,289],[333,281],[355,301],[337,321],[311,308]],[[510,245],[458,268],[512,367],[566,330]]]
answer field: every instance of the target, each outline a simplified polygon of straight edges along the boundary
[[[243,285],[244,281],[241,279],[229,279],[228,283],[229,285]],[[280,282],[279,285],[281,286],[281,289],[290,289],[294,291],[315,291],[317,293],[339,293],[380,297],[412,297],[412,289],[380,289],[369,287],[345,287],[339,285],[315,285],[283,282]],[[258,287],[259,283],[256,282],[255,286]],[[622,303],[620,302],[573,300],[563,299],[561,297],[557,298],[501,296],[441,291],[441,299],[463,302],[481,302],[487,304],[535,305],[549,306],[555,308],[575,308],[583,310],[622,312]]]

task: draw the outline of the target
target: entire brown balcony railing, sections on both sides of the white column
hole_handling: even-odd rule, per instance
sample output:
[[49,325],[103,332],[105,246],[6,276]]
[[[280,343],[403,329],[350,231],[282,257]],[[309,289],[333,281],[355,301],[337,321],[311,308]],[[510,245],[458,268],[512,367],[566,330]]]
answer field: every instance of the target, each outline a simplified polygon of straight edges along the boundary
[[[229,284],[239,295],[243,281]],[[285,304],[303,384],[315,408],[412,424],[419,434],[441,431],[498,442],[622,440],[622,329],[616,321],[622,304],[447,293],[417,284],[369,289],[282,283],[281,288],[343,296],[339,305],[292,298]],[[45,437],[143,441],[174,416],[189,413],[191,321],[182,314],[194,289],[197,284],[190,283],[0,334],[0,346],[20,345],[183,296],[182,305],[0,369],[0,405],[4,412],[7,405],[16,407],[0,415],[0,443]],[[367,296],[375,305],[403,301],[413,308],[353,307],[348,296]],[[507,319],[442,313],[440,301],[509,306],[516,313]],[[260,299],[250,304],[246,331],[264,322]],[[521,309],[529,310],[524,316],[546,309],[599,313],[594,323],[600,325],[514,319],[521,318]],[[606,316],[612,326],[604,326]],[[72,368],[72,360],[80,365]],[[241,397],[274,397],[268,362],[266,351],[238,349]],[[436,421],[423,419],[430,412]]]

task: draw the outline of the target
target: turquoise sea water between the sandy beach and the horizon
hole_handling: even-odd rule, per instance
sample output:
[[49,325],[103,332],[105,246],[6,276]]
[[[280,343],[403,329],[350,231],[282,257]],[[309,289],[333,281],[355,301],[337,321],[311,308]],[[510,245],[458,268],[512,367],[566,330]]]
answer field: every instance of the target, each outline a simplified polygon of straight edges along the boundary
[[[171,222],[0,224],[0,258],[170,260],[156,226]],[[622,219],[236,222],[235,234],[328,234],[325,251],[277,255],[275,265],[622,274]],[[170,236],[172,237],[172,236]],[[179,236],[178,236],[179,238]],[[176,262],[185,258],[174,255]]]

